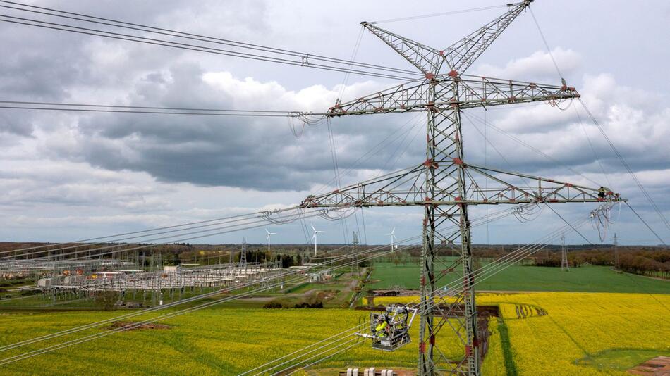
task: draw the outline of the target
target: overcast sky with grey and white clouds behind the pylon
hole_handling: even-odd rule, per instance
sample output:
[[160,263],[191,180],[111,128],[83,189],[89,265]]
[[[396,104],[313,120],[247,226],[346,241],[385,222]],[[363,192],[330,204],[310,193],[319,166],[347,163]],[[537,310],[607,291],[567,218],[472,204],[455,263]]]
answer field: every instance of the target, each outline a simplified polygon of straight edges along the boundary
[[[35,1],[143,25],[349,58],[360,21],[500,5],[501,1]],[[26,3],[28,4],[28,3]],[[532,4],[561,73],[604,127],[654,201],[670,217],[670,4],[645,1],[535,1]],[[504,9],[381,24],[444,48]],[[0,8],[0,14],[39,18]],[[139,33],[139,32],[138,32]],[[250,61],[0,22],[0,100],[132,106],[324,111],[339,94],[353,99],[397,82]],[[356,60],[411,69],[364,32]],[[530,13],[521,15],[468,71],[559,84]],[[670,230],[590,123],[578,103],[469,111],[465,157],[592,186],[602,182],[630,199],[654,230]],[[486,124],[477,119],[486,119]],[[332,121],[343,184],[425,160],[423,115],[391,114]],[[492,125],[505,133],[497,132]],[[486,134],[486,140],[484,134]],[[510,137],[512,136],[512,137]],[[387,138],[388,137],[388,138]],[[515,141],[541,150],[546,158]],[[385,142],[382,140],[386,139]],[[490,143],[490,144],[489,144]],[[592,147],[591,147],[592,146]],[[329,132],[306,127],[295,137],[285,118],[85,114],[0,108],[0,239],[67,241],[251,213],[323,192],[334,176]],[[373,148],[369,158],[359,160]],[[602,173],[604,170],[604,173]],[[589,205],[559,206],[569,220]],[[499,210],[499,208],[494,208]],[[493,210],[493,209],[491,209]],[[485,209],[478,208],[478,213]],[[420,209],[366,209],[348,219],[369,244],[420,231]],[[635,215],[616,210],[606,242],[658,244]],[[343,225],[314,220],[319,241],[343,242]],[[365,226],[363,226],[365,223]],[[475,230],[476,243],[525,243],[561,227],[544,210],[529,223],[501,220]],[[299,225],[269,226],[275,242],[304,243]],[[580,228],[599,242],[590,226]],[[262,229],[202,242],[264,241]],[[568,243],[585,243],[566,233]],[[322,240],[321,240],[322,239]]]

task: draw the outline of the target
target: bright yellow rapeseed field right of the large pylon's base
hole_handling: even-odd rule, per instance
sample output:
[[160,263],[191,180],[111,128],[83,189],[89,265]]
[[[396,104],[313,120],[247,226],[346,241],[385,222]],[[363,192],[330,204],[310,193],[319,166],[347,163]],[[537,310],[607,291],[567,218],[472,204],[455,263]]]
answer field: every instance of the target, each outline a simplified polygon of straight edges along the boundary
[[[413,301],[377,298],[374,303]],[[492,319],[484,375],[626,375],[655,356],[670,356],[670,295],[542,292],[478,294],[499,305],[506,336]],[[516,306],[542,308],[517,318]],[[504,330],[503,327],[503,330]],[[509,341],[507,362],[503,342]]]

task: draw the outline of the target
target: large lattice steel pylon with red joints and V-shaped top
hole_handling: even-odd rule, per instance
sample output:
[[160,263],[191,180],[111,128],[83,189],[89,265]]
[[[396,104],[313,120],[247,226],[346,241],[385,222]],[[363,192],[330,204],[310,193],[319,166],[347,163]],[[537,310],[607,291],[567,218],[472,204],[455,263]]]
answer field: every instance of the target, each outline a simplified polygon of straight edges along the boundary
[[[329,108],[328,118],[381,113],[427,113],[426,160],[382,177],[310,195],[303,208],[370,206],[420,206],[424,208],[422,270],[420,276],[419,375],[480,375],[480,340],[475,309],[475,272],[470,242],[468,208],[485,204],[568,203],[619,200],[610,194],[599,198],[597,189],[522,173],[466,163],[463,158],[461,111],[503,104],[549,101],[551,104],[579,98],[561,85],[536,84],[463,73],[520,15],[532,0],[511,4],[506,13],[446,49],[434,49],[396,35],[372,23],[362,25],[420,70],[424,77],[382,92]],[[483,188],[477,179],[489,179],[499,187]],[[520,184],[530,181],[530,187]],[[454,230],[454,228],[456,230]],[[458,261],[440,269],[441,249],[456,249]],[[451,299],[439,294],[437,282],[458,264],[463,286]],[[444,327],[456,333],[463,356],[446,356],[437,344]]]

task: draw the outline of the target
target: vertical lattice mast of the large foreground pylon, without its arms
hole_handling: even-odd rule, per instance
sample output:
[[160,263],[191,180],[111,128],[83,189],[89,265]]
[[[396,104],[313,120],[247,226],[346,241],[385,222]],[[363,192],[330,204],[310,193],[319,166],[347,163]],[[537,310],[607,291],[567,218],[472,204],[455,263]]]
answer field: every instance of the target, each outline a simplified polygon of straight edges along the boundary
[[[457,87],[429,92],[431,102],[458,96]],[[468,207],[440,206],[431,201],[445,198],[458,201],[467,197],[465,171],[463,170],[463,144],[461,143],[461,117],[457,107],[433,108],[428,114],[425,218],[423,223],[421,287],[421,325],[418,373],[422,376],[480,375],[479,343],[477,339],[477,310],[475,308],[475,278],[473,253],[470,242]],[[456,229],[454,229],[456,227]],[[460,247],[459,247],[460,245]],[[436,270],[439,249],[449,246],[459,251],[460,258],[448,270]],[[449,270],[461,264],[463,285],[455,287],[445,298],[436,289],[439,280]],[[437,334],[442,327],[449,327],[464,348],[464,356],[447,356],[437,344]]]

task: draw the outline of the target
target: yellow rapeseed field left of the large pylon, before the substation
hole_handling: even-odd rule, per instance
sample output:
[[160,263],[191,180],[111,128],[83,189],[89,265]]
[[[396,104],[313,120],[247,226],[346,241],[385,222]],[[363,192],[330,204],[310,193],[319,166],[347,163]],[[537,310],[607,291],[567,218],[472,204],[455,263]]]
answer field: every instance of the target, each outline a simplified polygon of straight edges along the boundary
[[[87,312],[0,315],[0,346],[121,314]],[[168,330],[133,330],[112,334],[27,361],[1,366],[0,373],[238,375],[354,327],[367,315],[369,313],[365,311],[345,309],[206,309],[162,321],[171,326]],[[102,331],[92,330],[86,334]],[[413,327],[411,334],[418,337],[418,325]],[[454,341],[450,336],[451,333],[445,331],[440,340],[447,343]],[[64,339],[42,344],[51,345],[61,341]],[[452,347],[451,356],[462,356],[463,349]],[[37,346],[26,346],[24,351],[28,349],[37,349]],[[18,353],[2,352],[0,358]],[[361,339],[360,346],[319,363],[319,367],[393,364],[413,368],[416,359],[415,343],[388,353],[370,349],[370,341]]]

